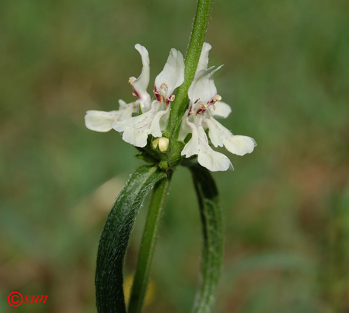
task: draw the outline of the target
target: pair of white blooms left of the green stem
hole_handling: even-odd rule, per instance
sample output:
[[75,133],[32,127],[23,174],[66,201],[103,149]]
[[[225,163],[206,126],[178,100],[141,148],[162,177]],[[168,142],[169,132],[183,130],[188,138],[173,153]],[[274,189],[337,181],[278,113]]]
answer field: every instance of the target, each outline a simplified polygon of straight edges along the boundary
[[[162,72],[155,79],[154,94],[156,99],[151,101],[147,92],[149,84],[149,55],[145,47],[136,44],[135,48],[142,57],[142,73],[136,79],[130,77],[135,102],[126,104],[119,100],[118,111],[87,111],[86,127],[94,131],[107,132],[114,128],[123,132],[122,139],[136,147],[147,144],[148,135],[162,137],[169,117],[170,102],[174,99],[173,91],[184,81],[183,55],[176,49],[171,49],[170,55]],[[139,107],[141,112],[139,112]],[[141,113],[132,117],[132,113]]]

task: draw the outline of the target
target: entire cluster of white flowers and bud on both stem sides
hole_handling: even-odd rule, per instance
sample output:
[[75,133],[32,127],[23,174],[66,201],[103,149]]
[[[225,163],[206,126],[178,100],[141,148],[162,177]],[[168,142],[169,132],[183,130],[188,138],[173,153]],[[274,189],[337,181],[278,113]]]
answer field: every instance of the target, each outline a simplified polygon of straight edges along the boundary
[[[148,135],[152,135],[155,137],[153,148],[159,147],[164,152],[168,149],[169,139],[163,137],[162,131],[168,124],[170,105],[174,100],[173,91],[184,82],[183,55],[176,49],[171,49],[164,69],[155,79],[155,99],[151,100],[147,92],[148,51],[140,44],[136,44],[135,48],[141,54],[143,68],[137,79],[130,77],[129,83],[138,99],[128,104],[119,100],[120,107],[117,111],[87,111],[85,124],[93,131],[107,132],[113,128],[122,132],[122,139],[136,147],[145,147]],[[181,155],[186,158],[197,155],[198,162],[210,171],[226,171],[233,169],[233,166],[227,156],[210,147],[206,130],[214,147],[224,146],[233,154],[251,153],[257,144],[251,137],[233,135],[215,119],[226,118],[231,109],[221,101],[222,97],[217,94],[213,81],[213,74],[221,66],[216,69],[214,66],[207,68],[210,49],[210,44],[203,44],[195,77],[188,90],[189,107],[183,117],[178,140],[185,142],[188,134],[191,134]],[[133,113],[138,115],[132,116]]]

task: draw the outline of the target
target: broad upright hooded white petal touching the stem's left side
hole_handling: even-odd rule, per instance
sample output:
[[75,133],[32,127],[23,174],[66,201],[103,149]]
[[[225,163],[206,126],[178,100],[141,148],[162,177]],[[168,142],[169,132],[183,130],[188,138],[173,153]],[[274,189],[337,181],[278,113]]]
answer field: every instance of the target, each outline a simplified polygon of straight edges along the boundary
[[174,89],[179,87],[184,82],[184,61],[183,55],[176,49],[172,48],[170,55],[166,61],[164,69],[155,79],[155,87],[159,91],[161,85],[168,86],[167,97],[169,98]]

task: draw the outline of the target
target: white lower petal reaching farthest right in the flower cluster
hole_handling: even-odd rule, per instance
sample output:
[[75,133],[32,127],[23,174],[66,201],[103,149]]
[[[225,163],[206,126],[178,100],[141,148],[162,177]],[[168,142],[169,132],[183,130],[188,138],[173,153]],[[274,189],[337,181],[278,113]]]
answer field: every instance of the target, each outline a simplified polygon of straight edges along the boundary
[[245,155],[251,153],[257,143],[248,136],[233,135],[227,128],[217,122],[214,118],[205,118],[203,120],[207,125],[208,135],[215,147],[224,147],[236,155]]

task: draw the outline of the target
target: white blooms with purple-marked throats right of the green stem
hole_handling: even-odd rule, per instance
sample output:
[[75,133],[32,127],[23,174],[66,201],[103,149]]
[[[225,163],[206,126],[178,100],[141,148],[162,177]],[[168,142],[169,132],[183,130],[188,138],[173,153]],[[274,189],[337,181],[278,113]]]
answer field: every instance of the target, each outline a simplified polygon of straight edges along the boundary
[[188,133],[192,133],[191,139],[185,145],[181,155],[187,158],[198,155],[198,162],[210,171],[226,171],[233,169],[227,156],[214,151],[208,143],[205,129],[208,128],[208,136],[214,147],[225,147],[229,152],[237,155],[251,153],[256,142],[248,136],[233,135],[227,128],[214,119],[215,116],[226,118],[230,112],[230,106],[222,101],[217,94],[213,81],[213,74],[221,68],[207,68],[208,52],[211,45],[204,43],[195,77],[188,90],[190,99],[189,109],[183,119],[179,140],[184,140]]

